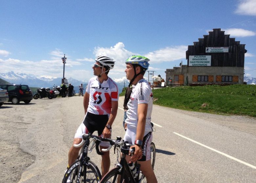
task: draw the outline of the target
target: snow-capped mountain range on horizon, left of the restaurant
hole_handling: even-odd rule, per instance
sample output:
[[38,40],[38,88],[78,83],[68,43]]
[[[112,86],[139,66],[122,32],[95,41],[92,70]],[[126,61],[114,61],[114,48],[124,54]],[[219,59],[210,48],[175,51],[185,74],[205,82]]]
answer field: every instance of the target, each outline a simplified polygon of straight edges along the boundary
[[[39,77],[36,75],[28,75],[24,73],[14,73],[13,71],[8,73],[0,73],[0,79],[3,79],[9,83],[15,84],[25,84],[29,85],[30,87],[44,87],[44,88],[51,88],[53,85],[60,86],[62,78],[53,78],[53,77]],[[126,77],[122,78],[112,78],[118,86],[119,93],[122,92],[123,87],[128,86],[129,81]],[[68,78],[68,83],[71,83],[74,86],[74,90],[78,93],[79,85],[83,83],[84,86],[87,85],[88,81],[79,81],[72,77]],[[84,87],[85,88],[85,87]]]

